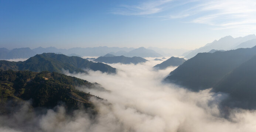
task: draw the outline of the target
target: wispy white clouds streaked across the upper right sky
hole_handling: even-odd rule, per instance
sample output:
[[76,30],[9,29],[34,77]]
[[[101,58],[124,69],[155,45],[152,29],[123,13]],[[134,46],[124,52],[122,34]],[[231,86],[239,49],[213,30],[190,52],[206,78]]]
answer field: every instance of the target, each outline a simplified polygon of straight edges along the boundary
[[[214,29],[231,29],[237,27],[255,29],[252,26],[256,26],[256,1],[151,1],[133,6],[123,5],[120,8],[114,9],[113,14],[181,19],[183,22],[214,26]],[[248,31],[249,29],[241,31]]]

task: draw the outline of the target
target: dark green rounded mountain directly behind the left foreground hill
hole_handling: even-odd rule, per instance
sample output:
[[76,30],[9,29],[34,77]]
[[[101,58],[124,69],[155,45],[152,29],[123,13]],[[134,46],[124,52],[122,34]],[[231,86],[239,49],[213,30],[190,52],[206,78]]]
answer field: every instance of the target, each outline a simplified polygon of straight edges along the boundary
[[0,69],[2,70],[30,70],[33,72],[50,71],[62,73],[62,70],[68,70],[71,73],[85,72],[84,69],[99,70],[106,73],[116,73],[116,69],[103,64],[94,63],[78,56],[66,56],[62,54],[44,53],[35,55],[24,62],[8,62],[0,60]]

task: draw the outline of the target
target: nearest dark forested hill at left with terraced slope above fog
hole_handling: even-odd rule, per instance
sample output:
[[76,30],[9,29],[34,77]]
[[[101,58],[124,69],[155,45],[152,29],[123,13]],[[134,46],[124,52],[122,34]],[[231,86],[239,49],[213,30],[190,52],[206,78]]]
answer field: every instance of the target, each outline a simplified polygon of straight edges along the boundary
[[78,91],[75,87],[99,89],[98,85],[86,80],[47,71],[35,73],[0,70],[0,84],[0,113],[10,112],[5,108],[7,102],[17,103],[30,99],[33,107],[53,108],[62,102],[68,109],[78,109],[81,104],[93,109],[93,104],[89,101],[93,95]]

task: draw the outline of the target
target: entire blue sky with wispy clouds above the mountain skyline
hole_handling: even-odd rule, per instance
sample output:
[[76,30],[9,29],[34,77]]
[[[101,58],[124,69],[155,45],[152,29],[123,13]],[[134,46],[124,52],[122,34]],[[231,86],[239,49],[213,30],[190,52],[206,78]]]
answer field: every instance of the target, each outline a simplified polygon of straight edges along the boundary
[[8,49],[195,49],[255,33],[255,0],[0,0],[0,47]]

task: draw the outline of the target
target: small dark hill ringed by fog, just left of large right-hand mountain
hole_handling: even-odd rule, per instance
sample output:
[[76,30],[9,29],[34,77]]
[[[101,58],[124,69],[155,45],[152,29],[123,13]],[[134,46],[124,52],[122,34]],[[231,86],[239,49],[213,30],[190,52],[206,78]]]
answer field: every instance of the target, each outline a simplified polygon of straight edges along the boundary
[[179,66],[182,63],[184,63],[185,61],[186,60],[184,58],[171,57],[171,58],[165,60],[164,62],[157,64],[156,66],[154,66],[154,68],[165,69],[169,66]]

